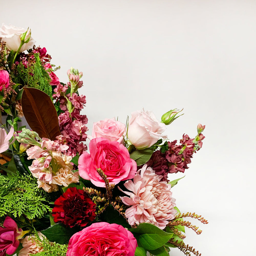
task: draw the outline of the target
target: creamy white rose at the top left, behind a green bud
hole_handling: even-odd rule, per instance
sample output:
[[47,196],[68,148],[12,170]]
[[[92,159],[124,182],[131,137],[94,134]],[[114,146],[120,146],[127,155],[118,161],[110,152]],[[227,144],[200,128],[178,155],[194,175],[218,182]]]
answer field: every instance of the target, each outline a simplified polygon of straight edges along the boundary
[[[17,51],[19,49],[21,40],[20,35],[22,35],[27,30],[20,27],[15,27],[13,25],[2,24],[0,27],[0,37],[3,38],[3,41],[6,42],[6,47],[9,50]],[[36,41],[30,37],[30,40],[27,44],[24,44],[19,52],[23,52],[25,50],[31,49]]]

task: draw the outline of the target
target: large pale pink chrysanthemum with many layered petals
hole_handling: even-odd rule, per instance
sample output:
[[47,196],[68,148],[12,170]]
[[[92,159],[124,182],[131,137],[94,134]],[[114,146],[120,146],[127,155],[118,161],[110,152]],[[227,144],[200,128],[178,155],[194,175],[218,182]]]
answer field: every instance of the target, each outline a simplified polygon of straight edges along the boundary
[[129,197],[120,198],[124,204],[132,206],[125,211],[130,225],[146,222],[164,229],[168,221],[174,219],[177,213],[175,199],[172,198],[171,185],[160,182],[162,177],[145,164],[133,177],[133,182],[125,182],[124,186],[132,192],[123,191]]

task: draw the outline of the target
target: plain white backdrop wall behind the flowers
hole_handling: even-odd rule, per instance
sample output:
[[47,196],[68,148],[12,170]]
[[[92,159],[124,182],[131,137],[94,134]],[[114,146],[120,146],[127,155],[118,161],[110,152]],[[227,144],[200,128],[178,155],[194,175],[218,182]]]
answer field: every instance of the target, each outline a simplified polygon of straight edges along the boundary
[[[255,248],[256,1],[1,1],[1,20],[32,30],[60,81],[82,71],[92,123],[144,107],[168,126],[169,139],[194,137],[202,149],[173,188],[178,208],[208,219],[185,242],[202,255],[253,255]],[[172,175],[170,179],[182,177]],[[183,255],[177,248],[173,256]]]

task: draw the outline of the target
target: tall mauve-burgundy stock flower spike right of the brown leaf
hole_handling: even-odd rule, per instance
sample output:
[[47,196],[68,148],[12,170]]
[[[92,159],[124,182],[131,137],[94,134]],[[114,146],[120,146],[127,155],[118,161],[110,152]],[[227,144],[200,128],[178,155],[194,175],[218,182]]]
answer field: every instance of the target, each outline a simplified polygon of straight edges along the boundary
[[[86,126],[88,119],[86,115],[80,115],[80,111],[86,103],[86,97],[76,93],[77,89],[83,84],[79,80],[82,72],[77,75],[72,74],[74,72],[78,73],[73,69],[71,69],[71,73],[68,70],[69,82],[67,85],[58,84],[54,89],[55,94],[52,95],[54,99],[59,101],[60,109],[64,111],[58,117],[61,135],[57,139],[61,144],[69,146],[66,155],[72,157],[77,152],[80,155],[84,150],[87,150],[87,146],[83,144],[83,141],[86,141],[86,132],[88,131]],[[70,93],[66,94],[69,88]]]

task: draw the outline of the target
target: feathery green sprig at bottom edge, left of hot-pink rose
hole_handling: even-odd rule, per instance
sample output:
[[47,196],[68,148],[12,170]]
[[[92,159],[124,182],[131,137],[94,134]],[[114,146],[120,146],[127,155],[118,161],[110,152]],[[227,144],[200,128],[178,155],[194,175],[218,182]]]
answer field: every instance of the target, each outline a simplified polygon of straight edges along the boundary
[[50,242],[46,237],[42,239],[44,251],[33,254],[33,256],[66,256],[68,245]]

